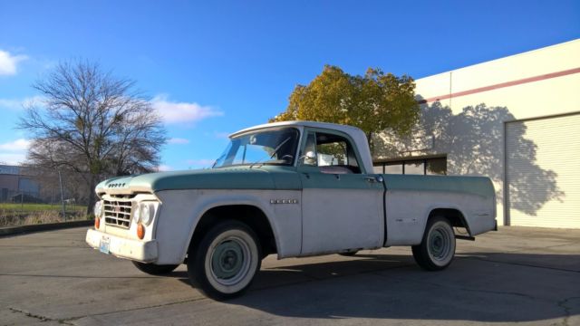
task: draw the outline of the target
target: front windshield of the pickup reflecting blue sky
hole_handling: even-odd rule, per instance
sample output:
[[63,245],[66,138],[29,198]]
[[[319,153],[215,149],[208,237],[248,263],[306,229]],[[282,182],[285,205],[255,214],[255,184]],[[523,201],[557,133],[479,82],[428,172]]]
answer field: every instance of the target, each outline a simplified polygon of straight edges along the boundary
[[256,131],[230,139],[213,168],[252,164],[292,166],[298,136],[297,129],[285,128]]

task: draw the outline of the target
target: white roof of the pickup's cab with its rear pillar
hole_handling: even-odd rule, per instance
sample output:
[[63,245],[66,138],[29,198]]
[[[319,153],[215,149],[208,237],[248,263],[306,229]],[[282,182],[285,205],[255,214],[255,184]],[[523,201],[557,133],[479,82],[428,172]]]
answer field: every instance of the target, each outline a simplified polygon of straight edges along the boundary
[[366,139],[366,135],[364,131],[358,129],[353,126],[341,125],[337,123],[328,123],[328,122],[315,122],[315,121],[281,121],[281,122],[273,122],[273,123],[265,123],[261,125],[257,125],[254,127],[250,127],[247,129],[241,129],[237,132],[232,133],[229,135],[230,138],[236,137],[238,135],[247,133],[249,131],[255,131],[259,129],[270,129],[275,127],[283,127],[283,126],[292,126],[298,127],[301,130],[304,127],[309,128],[320,128],[320,129],[331,129],[342,131],[343,133],[348,134],[353,138],[354,142],[356,143],[357,149],[359,149],[359,153],[361,154],[362,165],[366,170],[366,173],[372,173],[372,158],[371,158],[371,151],[369,150],[368,141]]

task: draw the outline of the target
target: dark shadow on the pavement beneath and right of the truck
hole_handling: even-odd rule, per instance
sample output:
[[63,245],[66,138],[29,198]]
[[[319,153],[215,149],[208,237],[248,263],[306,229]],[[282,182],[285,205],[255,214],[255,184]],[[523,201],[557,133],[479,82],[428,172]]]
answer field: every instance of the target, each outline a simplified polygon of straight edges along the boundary
[[580,315],[579,276],[577,254],[458,253],[442,272],[410,256],[359,254],[263,267],[227,304],[294,318],[567,322]]

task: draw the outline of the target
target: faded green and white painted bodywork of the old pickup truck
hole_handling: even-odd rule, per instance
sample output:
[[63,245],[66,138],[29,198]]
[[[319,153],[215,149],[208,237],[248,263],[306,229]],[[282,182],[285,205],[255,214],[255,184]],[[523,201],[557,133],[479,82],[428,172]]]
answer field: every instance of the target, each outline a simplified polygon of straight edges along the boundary
[[[304,127],[302,132],[330,130],[335,126],[311,122],[292,122],[292,125]],[[264,128],[247,129],[234,137]],[[344,134],[353,142],[353,149],[360,151],[356,153],[359,160],[370,162],[367,141],[360,129],[339,126],[333,133]],[[297,150],[303,148],[304,143]],[[134,244],[136,225],[132,219],[129,229],[104,225],[100,230],[91,231],[87,234],[87,242],[97,247],[95,239],[107,236],[111,244],[115,244],[111,250],[118,250],[113,254],[136,260],[147,257],[148,262],[156,264],[180,264],[202,216],[214,207],[234,205],[255,206],[264,213],[275,236],[278,258],[372,249],[382,245],[419,245],[430,212],[436,208],[459,210],[472,235],[495,226],[495,193],[486,177],[385,175],[383,180],[380,177],[366,173],[323,173],[318,167],[256,165],[255,168],[215,168],[112,178],[97,186],[97,193],[103,198],[114,200],[111,194],[147,191],[149,193],[138,194],[132,199],[133,207],[142,200],[159,202],[159,209],[142,242],[155,242],[155,257],[142,254],[142,245],[134,248],[136,255],[128,255],[125,249],[120,249],[125,248],[118,245],[123,243],[122,239],[127,239],[130,251]],[[280,198],[296,204],[278,205],[276,199]]]

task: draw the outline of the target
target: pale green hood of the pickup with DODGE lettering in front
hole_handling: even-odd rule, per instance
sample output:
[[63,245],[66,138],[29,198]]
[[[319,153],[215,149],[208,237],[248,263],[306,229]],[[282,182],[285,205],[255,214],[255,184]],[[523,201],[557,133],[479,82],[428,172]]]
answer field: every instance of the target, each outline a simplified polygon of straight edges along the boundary
[[[171,189],[299,188],[294,171],[277,168],[211,168],[112,177],[96,187],[97,194],[131,194]],[[277,181],[277,182],[276,182]]]

